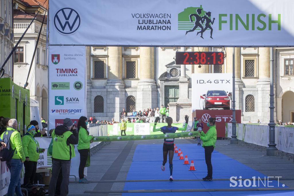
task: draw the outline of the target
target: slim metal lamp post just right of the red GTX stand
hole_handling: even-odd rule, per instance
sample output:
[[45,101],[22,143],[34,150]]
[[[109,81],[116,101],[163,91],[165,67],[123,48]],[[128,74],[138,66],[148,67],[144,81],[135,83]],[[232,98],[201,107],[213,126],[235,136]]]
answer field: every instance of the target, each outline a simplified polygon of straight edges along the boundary
[[238,144],[238,139],[236,136],[236,112],[235,112],[235,47],[233,47],[233,95],[232,95],[232,111],[233,120],[232,122],[232,138],[230,139],[230,144]]

